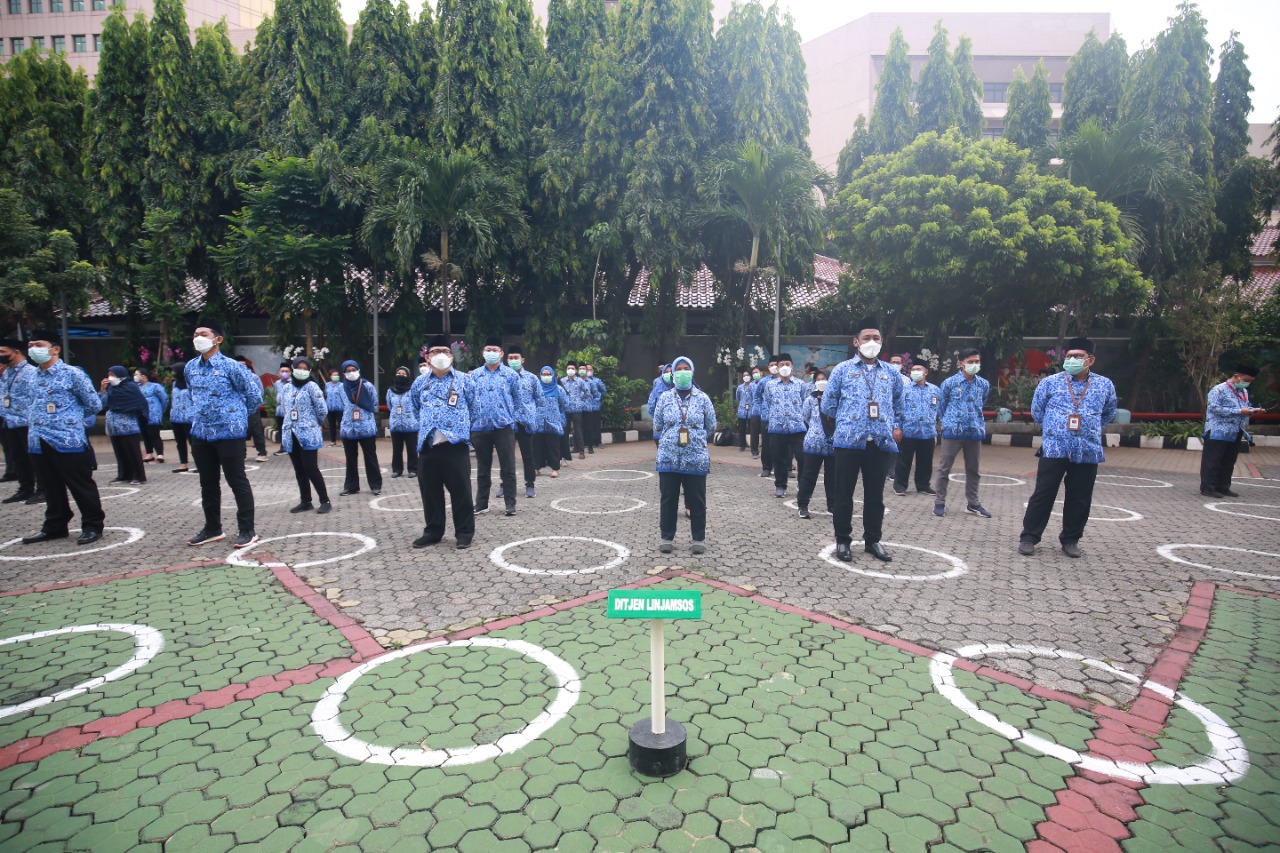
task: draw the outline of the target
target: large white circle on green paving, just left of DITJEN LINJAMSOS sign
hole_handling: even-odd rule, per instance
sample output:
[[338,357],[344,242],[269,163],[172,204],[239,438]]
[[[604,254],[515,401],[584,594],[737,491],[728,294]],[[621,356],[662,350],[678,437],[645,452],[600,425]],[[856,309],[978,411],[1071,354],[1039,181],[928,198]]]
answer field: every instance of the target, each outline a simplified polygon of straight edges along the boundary
[[[378,744],[371,744],[356,738],[343,727],[342,722],[338,721],[342,699],[347,695],[347,690],[351,689],[360,676],[389,661],[408,657],[410,654],[417,654],[419,652],[425,652],[428,649],[448,647],[463,648],[468,646],[506,648],[541,663],[556,678],[556,698],[547,706],[547,710],[534,717],[534,720],[520,731],[503,735],[494,743],[472,744],[470,747],[456,747],[451,749],[379,747]],[[326,747],[340,756],[355,758],[356,761],[364,761],[372,765],[397,765],[402,767],[457,767],[460,765],[475,765],[481,761],[489,761],[492,758],[497,758],[498,756],[511,754],[527,747],[530,743],[550,730],[552,726],[568,716],[570,710],[577,703],[581,692],[582,680],[579,678],[577,671],[573,670],[573,667],[564,660],[552,654],[541,647],[534,646],[532,643],[483,637],[453,640],[452,643],[436,640],[434,643],[410,646],[381,654],[371,661],[361,663],[352,671],[339,678],[329,685],[329,689],[324,692],[324,695],[320,697],[315,710],[311,712],[311,729],[320,735],[320,739]]]

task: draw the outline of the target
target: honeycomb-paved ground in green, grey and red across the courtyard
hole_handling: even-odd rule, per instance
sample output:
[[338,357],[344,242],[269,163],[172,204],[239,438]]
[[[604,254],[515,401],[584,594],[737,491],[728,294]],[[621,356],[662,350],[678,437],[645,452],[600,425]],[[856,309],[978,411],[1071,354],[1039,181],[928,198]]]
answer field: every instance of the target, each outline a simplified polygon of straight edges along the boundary
[[[1216,507],[1196,492],[1196,453],[1112,448],[1108,459],[1083,560],[1056,551],[1052,526],[1037,557],[1016,555],[1034,457],[984,448],[992,476],[983,502],[995,519],[954,505],[940,520],[927,497],[890,493],[884,538],[895,562],[859,558],[854,570],[820,557],[829,520],[796,519],[732,448],[716,450],[701,557],[687,552],[684,526],[676,555],[657,552],[649,444],[605,448],[557,480],[540,479],[516,517],[481,516],[476,544],[461,553],[448,538],[425,552],[407,547],[421,529],[413,480],[388,479],[378,501],[367,491],[335,497],[329,516],[296,516],[287,512],[292,473],[273,459],[251,473],[259,533],[284,537],[256,552],[269,567],[73,585],[221,564],[229,551],[182,544],[200,521],[196,478],[166,467],[137,493],[104,488],[119,494],[106,503],[108,524],[143,535],[116,544],[128,532],[114,530],[106,543],[116,547],[45,546],[47,555],[0,535],[0,590],[69,587],[0,597],[0,640],[123,622],[155,628],[165,644],[118,680],[0,716],[0,845],[1280,845],[1280,482],[1261,479],[1277,471],[1280,452],[1242,457],[1238,474],[1260,479],[1238,480],[1243,497]],[[326,474],[340,483],[339,470]],[[952,503],[961,489],[954,484]],[[10,537],[37,525],[35,507],[0,508]],[[371,538],[372,548],[343,558],[367,547],[343,534]],[[1162,556],[1172,544],[1188,547]],[[6,558],[22,556],[40,558]],[[704,579],[739,589],[703,587],[707,617],[668,631],[671,712],[689,726],[692,761],[671,780],[648,781],[625,758],[626,727],[648,701],[646,633],[604,620],[603,602],[568,599]],[[451,630],[549,651],[580,675],[581,698],[524,748],[463,766],[362,763],[311,730],[334,679],[383,647]],[[978,653],[955,665],[956,686],[1000,721],[1076,754],[1201,761],[1212,747],[1201,720],[1078,660],[1098,658],[1165,688],[1180,684],[1239,734],[1248,772],[1226,784],[1143,785],[1015,745],[936,689],[931,656],[974,644],[1064,652]],[[74,689],[133,648],[131,635],[113,631],[0,646],[0,708]],[[520,731],[556,695],[547,667],[509,647],[433,647],[362,675],[338,719],[362,742],[447,751]]]

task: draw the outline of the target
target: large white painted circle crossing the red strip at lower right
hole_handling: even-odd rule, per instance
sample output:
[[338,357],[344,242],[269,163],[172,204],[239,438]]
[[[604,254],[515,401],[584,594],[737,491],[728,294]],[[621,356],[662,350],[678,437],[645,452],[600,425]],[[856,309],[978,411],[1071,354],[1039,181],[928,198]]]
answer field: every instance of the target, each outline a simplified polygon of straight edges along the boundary
[[[951,665],[956,657],[975,657],[987,654],[1009,654],[1010,652],[1024,652],[1037,657],[1056,657],[1068,661],[1079,661],[1084,666],[1103,670],[1130,684],[1140,684],[1142,688],[1158,693],[1174,704],[1190,712],[1204,726],[1204,734],[1210,742],[1210,754],[1204,760],[1189,766],[1175,767],[1166,763],[1138,763],[1132,761],[1115,761],[1100,756],[1085,754],[1070,749],[1059,743],[1041,738],[1039,735],[1023,731],[1000,720],[996,715],[983,711],[964,694],[956,685],[955,671]],[[1007,643],[977,643],[956,649],[956,654],[943,654],[938,652],[929,661],[929,675],[933,686],[975,721],[987,726],[1014,743],[1046,756],[1052,756],[1080,770],[1092,770],[1097,774],[1124,779],[1128,781],[1140,781],[1147,785],[1225,785],[1244,776],[1249,771],[1249,753],[1244,748],[1244,740],[1231,729],[1222,717],[1217,716],[1204,706],[1188,699],[1181,693],[1176,693],[1162,684],[1155,681],[1142,681],[1137,675],[1125,672],[1102,661],[1084,657],[1075,652],[1062,649],[1041,648],[1037,646],[1015,646]]]

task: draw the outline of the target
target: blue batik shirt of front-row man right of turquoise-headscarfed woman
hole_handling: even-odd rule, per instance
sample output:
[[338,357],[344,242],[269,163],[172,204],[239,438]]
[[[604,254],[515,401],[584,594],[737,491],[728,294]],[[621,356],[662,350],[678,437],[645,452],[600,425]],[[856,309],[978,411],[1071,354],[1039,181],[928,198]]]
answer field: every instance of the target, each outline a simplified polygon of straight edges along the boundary
[[[822,396],[822,414],[836,419],[833,442],[840,450],[865,450],[868,441],[886,453],[897,452],[893,430],[901,426],[902,374],[887,361],[865,364],[860,357],[837,364]],[[870,416],[870,402],[879,418]]]

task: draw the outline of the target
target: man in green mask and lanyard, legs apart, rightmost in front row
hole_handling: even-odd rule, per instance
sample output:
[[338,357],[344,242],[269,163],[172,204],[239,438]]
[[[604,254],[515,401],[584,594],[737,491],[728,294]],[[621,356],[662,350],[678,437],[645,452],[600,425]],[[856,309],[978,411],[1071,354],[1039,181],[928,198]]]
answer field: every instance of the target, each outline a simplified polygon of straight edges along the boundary
[[1036,491],[1023,514],[1018,553],[1030,557],[1048,526],[1059,487],[1066,480],[1062,501],[1062,533],[1059,543],[1068,557],[1080,556],[1080,537],[1093,506],[1093,483],[1105,461],[1102,429],[1116,416],[1116,388],[1093,373],[1093,341],[1066,342],[1062,373],[1036,386],[1032,418],[1041,425],[1041,448],[1036,451]]

